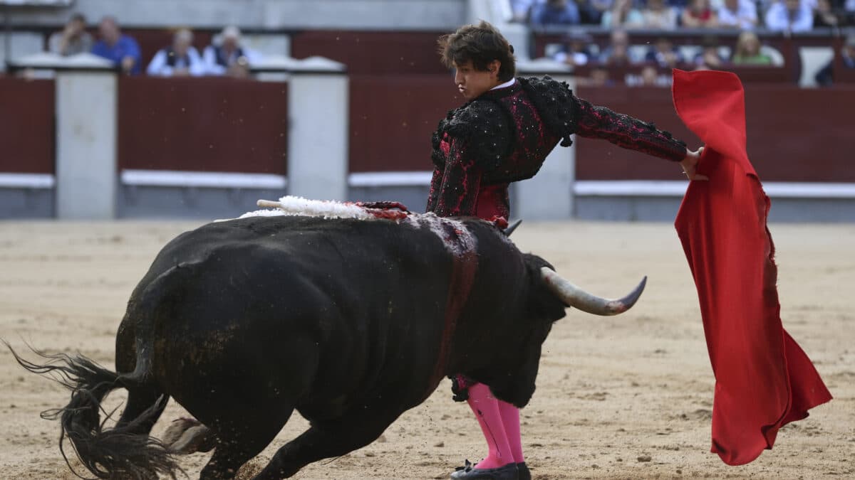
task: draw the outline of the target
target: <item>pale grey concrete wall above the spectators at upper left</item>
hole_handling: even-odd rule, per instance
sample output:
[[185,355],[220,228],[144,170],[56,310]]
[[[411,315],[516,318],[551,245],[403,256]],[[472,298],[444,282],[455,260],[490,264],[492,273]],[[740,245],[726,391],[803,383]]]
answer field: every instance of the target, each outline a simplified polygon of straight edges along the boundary
[[450,29],[466,17],[467,0],[77,0],[70,9],[15,9],[24,25],[56,26],[71,12],[95,21],[115,15],[127,26],[252,29]]

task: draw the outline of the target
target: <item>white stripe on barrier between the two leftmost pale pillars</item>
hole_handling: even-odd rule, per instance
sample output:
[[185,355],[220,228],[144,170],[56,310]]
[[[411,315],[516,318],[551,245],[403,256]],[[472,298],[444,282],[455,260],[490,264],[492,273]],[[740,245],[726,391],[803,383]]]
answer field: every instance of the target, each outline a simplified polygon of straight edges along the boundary
[[273,173],[122,170],[121,183],[157,187],[284,189],[287,179]]

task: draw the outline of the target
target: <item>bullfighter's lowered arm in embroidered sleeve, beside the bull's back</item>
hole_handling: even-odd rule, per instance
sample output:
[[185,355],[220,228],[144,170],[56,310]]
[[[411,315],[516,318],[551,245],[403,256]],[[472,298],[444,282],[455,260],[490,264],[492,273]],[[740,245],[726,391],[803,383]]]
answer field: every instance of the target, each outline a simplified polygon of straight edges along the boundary
[[[476,165],[475,157],[467,155],[465,142],[459,138],[451,139],[451,149],[445,161],[445,172],[438,191],[431,191],[433,208],[428,210],[440,217],[457,215],[475,215],[478,204],[478,190],[481,189],[481,168]],[[433,173],[437,179],[437,172]],[[431,184],[433,190],[434,184]]]

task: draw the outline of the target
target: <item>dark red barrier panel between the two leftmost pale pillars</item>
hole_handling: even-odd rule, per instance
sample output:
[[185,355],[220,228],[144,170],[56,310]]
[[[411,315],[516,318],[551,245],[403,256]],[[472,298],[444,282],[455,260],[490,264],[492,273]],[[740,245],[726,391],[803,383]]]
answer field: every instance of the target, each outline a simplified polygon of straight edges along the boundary
[[119,167],[286,173],[287,84],[121,77]]

